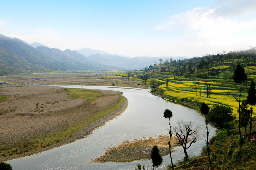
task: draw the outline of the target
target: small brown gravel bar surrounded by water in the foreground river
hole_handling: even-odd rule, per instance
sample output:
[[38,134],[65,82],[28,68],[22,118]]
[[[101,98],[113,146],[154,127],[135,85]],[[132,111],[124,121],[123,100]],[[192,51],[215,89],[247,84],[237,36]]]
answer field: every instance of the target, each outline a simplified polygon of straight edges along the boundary
[[[108,148],[106,153],[97,158],[93,162],[130,162],[135,160],[148,160],[151,156],[151,150],[157,145],[161,156],[169,154],[169,136],[159,135],[153,139],[135,139],[133,141],[125,141],[118,146]],[[175,137],[171,138],[172,147],[177,145]],[[173,150],[172,150],[173,152]]]

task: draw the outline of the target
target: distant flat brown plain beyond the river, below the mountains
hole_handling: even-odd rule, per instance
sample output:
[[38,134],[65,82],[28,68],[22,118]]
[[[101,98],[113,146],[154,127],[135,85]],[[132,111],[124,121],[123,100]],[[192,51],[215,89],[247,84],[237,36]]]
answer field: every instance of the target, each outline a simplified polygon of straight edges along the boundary
[[[103,85],[103,86],[123,86],[135,88],[147,88],[139,80],[127,80],[127,78],[105,78],[105,73],[64,73],[64,74],[29,74],[10,75],[0,77],[0,81],[18,84],[72,84],[72,85]],[[115,76],[116,73],[108,73],[107,76]],[[139,85],[138,85],[139,84]]]

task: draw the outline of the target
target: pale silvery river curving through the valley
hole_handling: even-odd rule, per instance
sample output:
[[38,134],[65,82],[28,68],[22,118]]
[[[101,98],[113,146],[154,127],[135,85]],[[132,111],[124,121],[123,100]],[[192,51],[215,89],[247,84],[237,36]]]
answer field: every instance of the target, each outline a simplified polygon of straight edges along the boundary
[[[62,88],[82,88],[74,85],[52,85]],[[107,148],[118,145],[126,140],[156,137],[168,134],[169,120],[163,118],[165,109],[173,112],[171,125],[174,127],[179,120],[193,121],[201,126],[202,140],[192,144],[187,149],[189,156],[198,156],[205,145],[206,128],[204,117],[196,110],[172,103],[149,93],[149,89],[123,89],[107,86],[83,86],[83,89],[102,89],[123,92],[128,99],[126,110],[115,119],[108,121],[104,126],[96,128],[91,135],[70,144],[66,144],[37,155],[7,161],[14,170],[103,170],[103,169],[134,169],[136,165],[144,164],[151,167],[151,160],[133,161],[127,163],[107,162],[90,163],[103,155]],[[208,126],[209,137],[215,133],[215,128]],[[183,159],[181,146],[175,147],[172,153],[173,162]],[[170,155],[163,157],[162,167],[169,165]]]

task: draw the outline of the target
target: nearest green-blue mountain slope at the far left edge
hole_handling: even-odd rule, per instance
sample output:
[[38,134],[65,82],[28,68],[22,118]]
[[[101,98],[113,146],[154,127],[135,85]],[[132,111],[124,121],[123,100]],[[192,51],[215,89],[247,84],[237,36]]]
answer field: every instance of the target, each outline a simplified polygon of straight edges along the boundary
[[35,70],[66,70],[65,65],[17,38],[0,35],[0,74]]

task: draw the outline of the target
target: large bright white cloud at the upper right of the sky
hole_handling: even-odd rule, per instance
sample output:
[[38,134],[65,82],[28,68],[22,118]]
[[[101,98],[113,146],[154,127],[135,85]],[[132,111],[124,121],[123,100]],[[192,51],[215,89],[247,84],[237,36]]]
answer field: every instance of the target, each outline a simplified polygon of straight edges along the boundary
[[[243,7],[241,8],[243,9]],[[250,13],[249,18],[253,19],[241,19],[242,17],[230,13],[220,15],[220,11],[223,9],[225,8],[195,8],[175,14],[162,24],[157,25],[156,30],[175,32],[183,29],[186,38],[181,41],[179,46],[188,47],[191,52],[200,47],[208,49],[208,53],[213,53],[224,49],[229,51],[255,46],[256,19],[254,18],[256,17],[251,17],[255,13]],[[245,13],[245,10],[242,9],[239,11],[240,16]],[[234,12],[232,11],[232,13]]]

